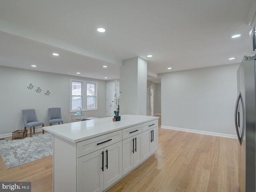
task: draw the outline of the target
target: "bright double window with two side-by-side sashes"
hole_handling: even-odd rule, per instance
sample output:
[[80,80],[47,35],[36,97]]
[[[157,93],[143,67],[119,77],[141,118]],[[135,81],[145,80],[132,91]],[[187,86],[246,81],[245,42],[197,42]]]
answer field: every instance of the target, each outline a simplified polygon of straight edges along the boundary
[[71,112],[78,110],[78,106],[82,110],[97,109],[97,82],[71,80]]

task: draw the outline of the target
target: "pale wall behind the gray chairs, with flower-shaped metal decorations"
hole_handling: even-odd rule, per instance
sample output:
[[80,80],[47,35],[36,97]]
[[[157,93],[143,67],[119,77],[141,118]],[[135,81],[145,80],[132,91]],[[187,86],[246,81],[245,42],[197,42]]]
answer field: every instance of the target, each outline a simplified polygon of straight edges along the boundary
[[[48,108],[60,107],[64,123],[71,122],[70,79],[98,82],[98,110],[85,111],[84,117],[106,116],[106,81],[0,66],[0,137],[24,129],[22,109],[34,108],[39,121],[48,126]],[[34,85],[32,90],[27,87]],[[41,93],[36,93],[40,87]],[[50,96],[44,93],[49,90]],[[39,128],[39,127],[38,127]],[[42,126],[41,126],[42,128]],[[2,136],[1,136],[2,135]],[[6,135],[5,135],[6,136]]]

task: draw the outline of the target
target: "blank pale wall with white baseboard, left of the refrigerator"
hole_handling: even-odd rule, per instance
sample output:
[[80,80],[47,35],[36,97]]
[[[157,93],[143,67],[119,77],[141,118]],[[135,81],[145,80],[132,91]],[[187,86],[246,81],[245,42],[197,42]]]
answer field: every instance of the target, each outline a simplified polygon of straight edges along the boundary
[[161,74],[162,126],[236,135],[238,66]]

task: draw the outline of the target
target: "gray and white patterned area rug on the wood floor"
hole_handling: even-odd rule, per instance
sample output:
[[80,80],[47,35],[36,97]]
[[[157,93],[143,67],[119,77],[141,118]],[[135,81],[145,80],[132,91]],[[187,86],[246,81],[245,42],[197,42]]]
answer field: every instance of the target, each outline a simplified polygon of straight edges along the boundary
[[0,140],[0,154],[7,169],[52,155],[53,135],[34,134],[24,139]]

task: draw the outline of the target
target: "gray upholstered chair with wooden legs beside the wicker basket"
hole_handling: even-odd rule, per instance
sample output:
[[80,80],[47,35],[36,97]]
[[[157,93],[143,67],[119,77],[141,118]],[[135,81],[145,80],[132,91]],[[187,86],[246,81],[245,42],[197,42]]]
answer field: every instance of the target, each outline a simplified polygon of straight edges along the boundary
[[[35,133],[35,127],[42,125],[44,127],[44,122],[38,121],[36,117],[36,112],[34,109],[24,109],[22,111],[23,121],[24,121],[24,129],[27,127],[30,128],[30,137],[32,137],[32,127],[34,127],[34,133]],[[44,130],[43,130],[44,134]]]

